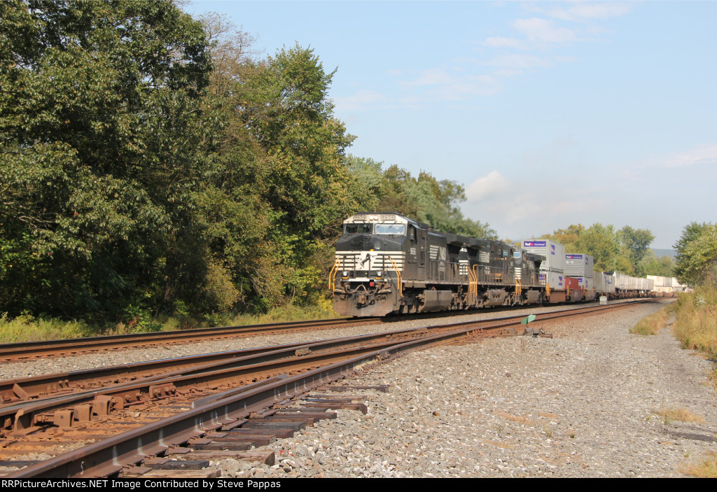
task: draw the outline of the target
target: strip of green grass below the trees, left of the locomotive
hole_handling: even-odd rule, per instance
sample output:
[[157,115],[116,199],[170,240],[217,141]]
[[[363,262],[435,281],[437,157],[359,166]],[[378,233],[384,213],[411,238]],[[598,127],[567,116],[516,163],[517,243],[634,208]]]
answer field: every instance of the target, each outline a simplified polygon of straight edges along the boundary
[[90,325],[80,320],[66,321],[57,318],[32,317],[22,315],[9,318],[0,314],[0,343],[37,342],[66,338],[96,337],[102,335],[128,334],[141,332],[171,332],[180,329],[209,328],[220,326],[244,326],[247,324],[267,324],[310,319],[331,319],[338,315],[331,306],[276,307],[266,314],[221,314],[198,319],[190,316],[150,317],[138,323],[136,319],[128,323]]

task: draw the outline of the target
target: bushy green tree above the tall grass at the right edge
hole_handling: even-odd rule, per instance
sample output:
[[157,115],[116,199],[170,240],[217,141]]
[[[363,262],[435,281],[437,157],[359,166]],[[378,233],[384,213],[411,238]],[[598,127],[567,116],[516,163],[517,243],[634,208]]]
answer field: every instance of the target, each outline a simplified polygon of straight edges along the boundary
[[673,247],[681,283],[717,287],[717,224],[690,222]]

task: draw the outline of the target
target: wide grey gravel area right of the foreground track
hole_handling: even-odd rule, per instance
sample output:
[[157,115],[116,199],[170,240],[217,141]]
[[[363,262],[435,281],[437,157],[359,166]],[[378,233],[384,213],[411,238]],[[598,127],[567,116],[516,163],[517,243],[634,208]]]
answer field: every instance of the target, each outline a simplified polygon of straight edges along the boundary
[[[413,352],[351,380],[391,385],[360,391],[368,415],[338,410],[277,440],[271,467],[212,466],[266,478],[684,476],[717,451],[717,400],[709,362],[680,349],[669,329],[629,333],[660,307],[551,324],[553,339]],[[669,408],[703,421],[655,413]]]

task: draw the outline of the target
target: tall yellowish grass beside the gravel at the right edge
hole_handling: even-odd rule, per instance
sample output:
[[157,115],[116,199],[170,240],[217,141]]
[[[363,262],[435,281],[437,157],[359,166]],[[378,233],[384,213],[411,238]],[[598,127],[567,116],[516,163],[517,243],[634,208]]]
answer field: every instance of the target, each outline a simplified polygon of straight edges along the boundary
[[698,287],[680,294],[673,332],[683,348],[699,350],[717,361],[717,289]]

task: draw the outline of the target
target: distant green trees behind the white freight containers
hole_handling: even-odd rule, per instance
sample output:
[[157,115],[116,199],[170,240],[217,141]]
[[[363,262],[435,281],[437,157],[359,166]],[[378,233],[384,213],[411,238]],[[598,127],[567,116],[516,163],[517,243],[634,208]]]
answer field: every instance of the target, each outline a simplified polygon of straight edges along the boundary
[[655,238],[648,229],[594,223],[586,228],[571,225],[546,235],[565,246],[566,253],[586,253],[594,257],[595,271],[620,271],[635,276],[673,276],[675,262],[670,256],[657,258],[650,250]]

